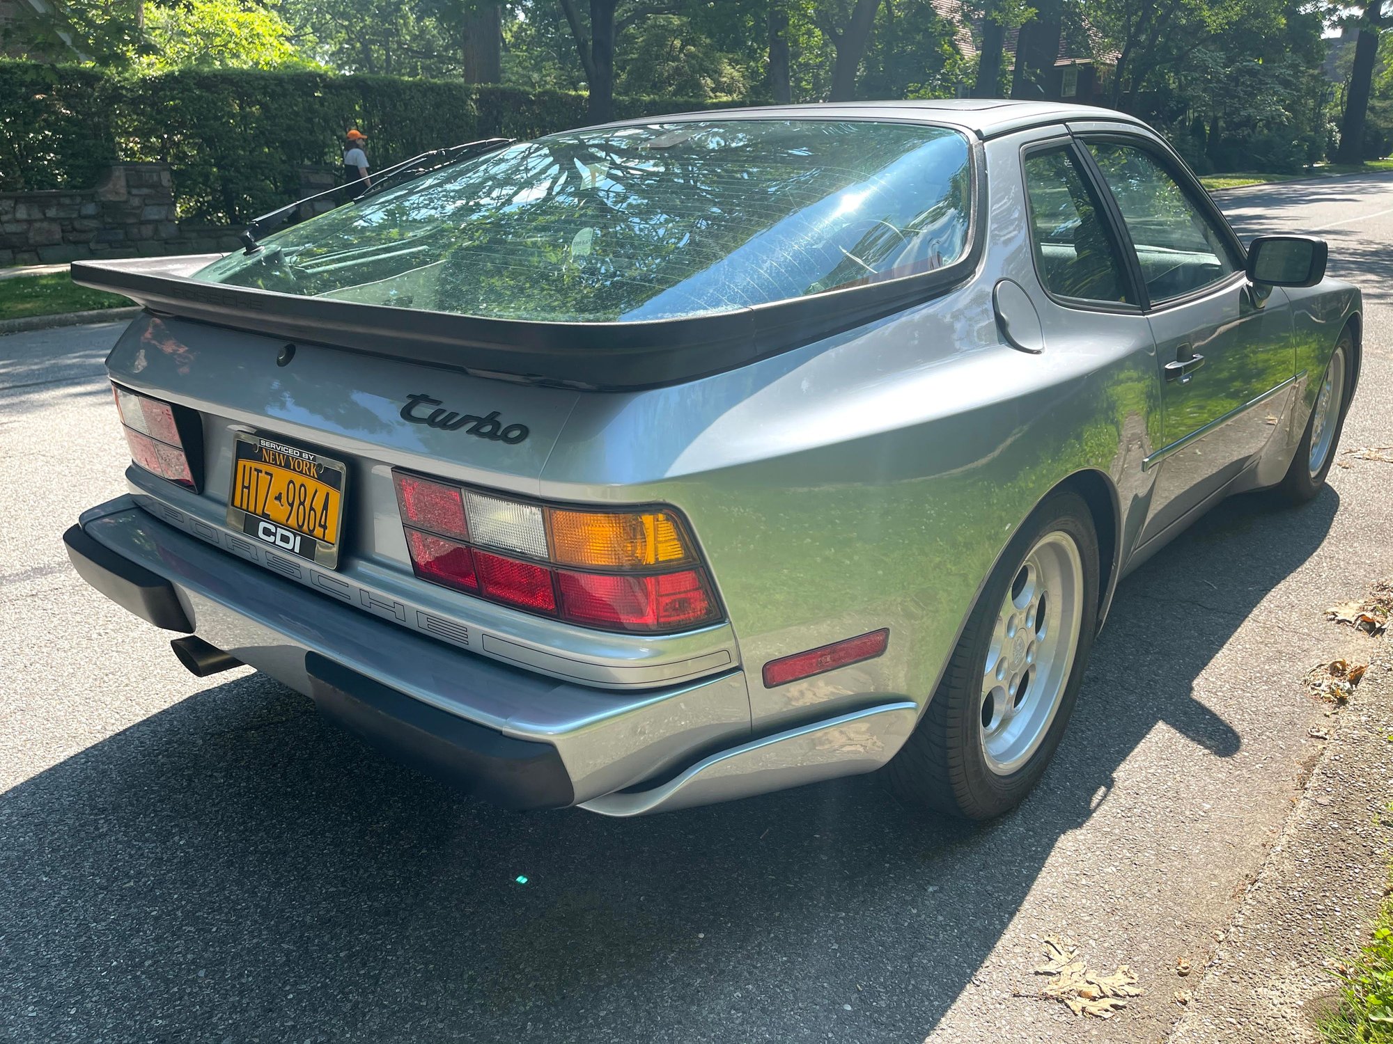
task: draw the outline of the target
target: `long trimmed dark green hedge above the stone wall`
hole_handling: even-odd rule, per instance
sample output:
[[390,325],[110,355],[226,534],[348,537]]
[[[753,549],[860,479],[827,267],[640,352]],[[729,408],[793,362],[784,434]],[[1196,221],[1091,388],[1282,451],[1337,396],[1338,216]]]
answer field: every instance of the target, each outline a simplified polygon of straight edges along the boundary
[[[241,223],[294,199],[299,168],[337,164],[343,132],[376,167],[476,138],[585,122],[585,96],[453,81],[182,70],[116,75],[0,61],[0,191],[88,188],[113,160],[164,161],[182,220]],[[618,116],[709,107],[616,99]]]

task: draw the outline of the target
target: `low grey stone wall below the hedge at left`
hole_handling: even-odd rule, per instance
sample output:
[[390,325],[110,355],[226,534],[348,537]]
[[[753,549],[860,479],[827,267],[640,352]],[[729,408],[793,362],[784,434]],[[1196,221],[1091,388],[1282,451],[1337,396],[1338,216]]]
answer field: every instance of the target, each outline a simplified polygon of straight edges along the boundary
[[[301,171],[301,196],[333,184],[332,170]],[[0,192],[0,266],[213,253],[241,246],[241,228],[180,224],[171,185],[170,168],[163,163],[121,163],[93,189]],[[306,203],[301,217],[323,213],[333,203],[333,196]]]

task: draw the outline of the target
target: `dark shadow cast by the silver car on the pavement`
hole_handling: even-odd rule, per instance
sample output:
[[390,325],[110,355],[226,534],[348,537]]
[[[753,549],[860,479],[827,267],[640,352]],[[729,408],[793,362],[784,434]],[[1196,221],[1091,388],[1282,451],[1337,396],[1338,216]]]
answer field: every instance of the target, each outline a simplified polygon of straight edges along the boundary
[[985,827],[873,777],[511,814],[215,683],[0,796],[0,1038],[922,1041],[1159,722],[1240,749],[1192,681],[1337,503],[1230,501],[1126,580],[1055,766]]

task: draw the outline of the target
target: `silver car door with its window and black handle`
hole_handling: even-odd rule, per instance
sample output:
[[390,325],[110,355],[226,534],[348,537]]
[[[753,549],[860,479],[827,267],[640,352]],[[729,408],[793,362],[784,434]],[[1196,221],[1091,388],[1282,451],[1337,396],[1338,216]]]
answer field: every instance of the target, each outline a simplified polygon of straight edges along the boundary
[[1082,135],[1116,205],[1162,379],[1159,468],[1142,541],[1230,484],[1283,416],[1295,369],[1282,291],[1244,276],[1227,221],[1184,167],[1141,135]]

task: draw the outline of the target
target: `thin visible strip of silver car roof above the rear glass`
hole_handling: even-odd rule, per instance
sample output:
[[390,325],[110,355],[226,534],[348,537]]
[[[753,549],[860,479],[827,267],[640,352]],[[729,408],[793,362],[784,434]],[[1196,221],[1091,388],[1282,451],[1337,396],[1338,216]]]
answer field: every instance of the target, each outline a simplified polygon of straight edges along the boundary
[[918,118],[925,122],[957,127],[982,139],[1010,134],[1027,127],[1064,122],[1066,120],[1106,120],[1145,127],[1137,117],[1119,113],[1114,109],[1063,102],[1017,102],[1004,97],[946,97],[922,102],[826,102],[815,104],[706,109],[695,113],[620,120],[614,124],[606,124],[606,127],[632,127],[635,124],[676,120],[710,120],[712,117],[762,120],[826,120],[836,117],[854,120],[873,120],[876,117],[892,120]]

